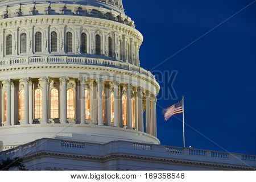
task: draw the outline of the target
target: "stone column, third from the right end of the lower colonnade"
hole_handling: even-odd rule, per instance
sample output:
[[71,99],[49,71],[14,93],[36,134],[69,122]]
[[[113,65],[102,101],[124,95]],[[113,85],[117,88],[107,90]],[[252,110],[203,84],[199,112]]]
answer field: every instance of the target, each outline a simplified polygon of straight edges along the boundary
[[138,123],[139,123],[139,131],[144,132],[142,88],[139,87],[137,89],[137,91],[138,91]]

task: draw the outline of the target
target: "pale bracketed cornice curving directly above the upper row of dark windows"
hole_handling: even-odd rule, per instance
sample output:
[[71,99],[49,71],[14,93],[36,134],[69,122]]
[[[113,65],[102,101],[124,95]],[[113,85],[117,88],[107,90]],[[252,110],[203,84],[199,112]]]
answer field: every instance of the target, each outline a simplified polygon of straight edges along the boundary
[[127,26],[119,22],[114,22],[108,19],[93,18],[88,16],[72,16],[72,15],[34,15],[34,16],[19,16],[0,20],[1,28],[17,28],[31,26],[81,26],[88,28],[110,28],[112,31],[118,31],[122,34],[129,35],[137,40],[140,47],[143,42],[141,32],[133,27]]

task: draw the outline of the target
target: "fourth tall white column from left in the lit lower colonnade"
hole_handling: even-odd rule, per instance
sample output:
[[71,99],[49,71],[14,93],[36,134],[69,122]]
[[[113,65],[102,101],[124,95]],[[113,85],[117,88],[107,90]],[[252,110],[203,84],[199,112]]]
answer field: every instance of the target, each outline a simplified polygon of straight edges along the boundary
[[60,78],[60,122],[68,123],[67,119],[67,77]]

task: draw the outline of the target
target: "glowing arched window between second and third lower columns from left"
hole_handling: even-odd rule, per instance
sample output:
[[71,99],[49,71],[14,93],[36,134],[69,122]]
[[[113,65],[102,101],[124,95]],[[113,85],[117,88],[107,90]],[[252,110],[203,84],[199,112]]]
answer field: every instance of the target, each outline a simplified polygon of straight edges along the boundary
[[42,90],[40,90],[40,89],[35,90],[34,118],[35,119],[43,118],[43,94],[42,94]]

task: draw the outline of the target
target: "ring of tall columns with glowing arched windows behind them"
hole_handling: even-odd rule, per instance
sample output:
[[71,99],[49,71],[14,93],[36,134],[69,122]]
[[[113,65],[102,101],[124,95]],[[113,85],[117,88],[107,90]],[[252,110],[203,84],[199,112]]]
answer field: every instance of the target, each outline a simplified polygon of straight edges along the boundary
[[[7,79],[2,81],[0,89],[3,127],[73,123],[124,127],[156,137],[156,97],[140,86],[85,77],[42,77]],[[35,93],[36,89],[39,94]],[[54,101],[52,89],[57,90]],[[74,97],[70,96],[70,89]],[[22,96],[20,90],[23,90]],[[85,95],[85,90],[89,96]],[[52,118],[53,111],[58,117]]]

